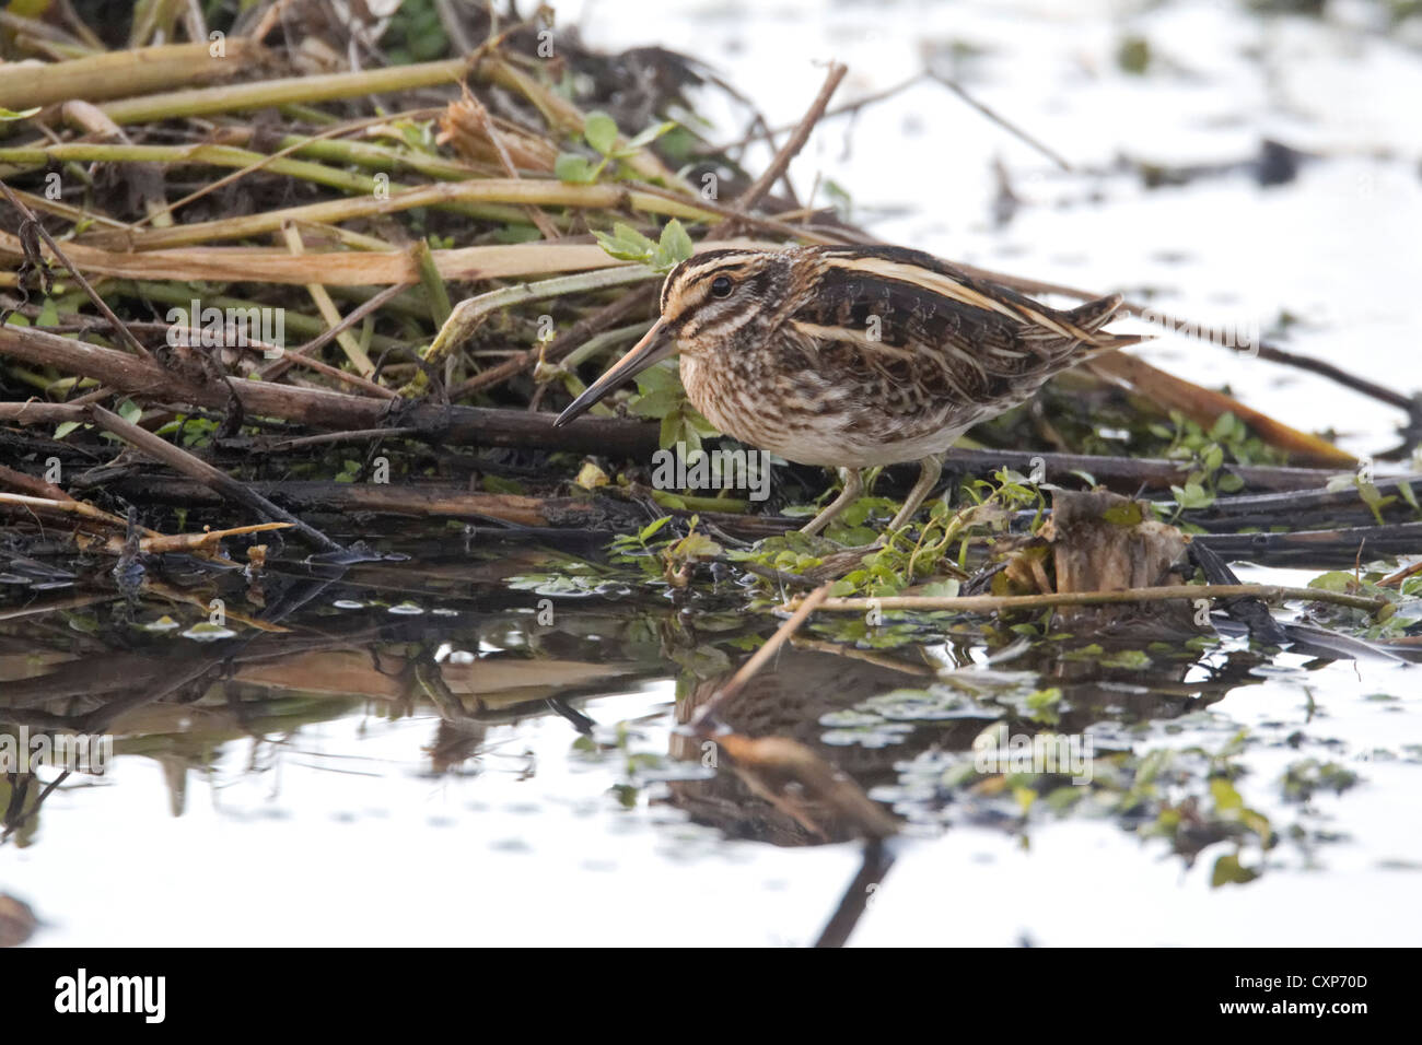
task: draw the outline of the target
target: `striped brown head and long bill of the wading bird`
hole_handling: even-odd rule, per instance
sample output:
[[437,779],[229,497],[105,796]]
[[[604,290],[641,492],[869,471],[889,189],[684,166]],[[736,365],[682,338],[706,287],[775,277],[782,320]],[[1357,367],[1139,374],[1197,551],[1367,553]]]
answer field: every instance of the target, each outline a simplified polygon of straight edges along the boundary
[[[785,250],[708,250],[688,257],[661,284],[661,317],[586,392],[557,415],[566,425],[607,392],[678,348],[687,354],[734,344],[747,324],[779,313],[791,283]],[[759,341],[761,338],[755,338]]]

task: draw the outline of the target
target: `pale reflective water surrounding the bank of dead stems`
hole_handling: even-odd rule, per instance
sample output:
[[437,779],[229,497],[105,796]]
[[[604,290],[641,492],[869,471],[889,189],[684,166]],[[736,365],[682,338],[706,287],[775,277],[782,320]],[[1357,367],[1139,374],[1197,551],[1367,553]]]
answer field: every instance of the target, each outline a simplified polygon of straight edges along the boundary
[[[1300,320],[1288,348],[1415,385],[1422,111],[1404,101],[1422,97],[1415,20],[1411,38],[1389,38],[1374,4],[1334,4],[1318,21],[1223,3],[697,3],[663,4],[656,24],[631,6],[583,7],[589,43],[695,53],[775,125],[798,119],[818,90],[815,60],[852,65],[848,100],[900,82],[924,48],[957,53],[951,68],[977,97],[1078,172],[919,84],[826,124],[792,168],[801,192],[833,179],[882,237],[985,267],[1149,290],[1162,309],[1267,333],[1288,313]],[[563,21],[577,16],[562,6]],[[1148,75],[1118,67],[1126,36],[1149,41]],[[729,109],[712,115],[735,134]],[[1264,136],[1318,159],[1267,189],[1246,166],[1146,189],[1116,164],[1240,164]],[[994,156],[1024,200],[1005,226],[993,219]],[[752,154],[751,168],[759,162]],[[1227,381],[1297,427],[1331,425],[1352,452],[1396,442],[1399,414],[1301,371],[1173,337],[1145,353],[1182,377]],[[142,606],[139,623],[166,611],[183,624],[142,631],[117,604],[7,617],[27,597],[0,603],[11,711],[98,707],[85,685],[31,700],[53,695],[65,663],[104,680],[108,698],[134,698],[108,724],[109,772],[71,778],[0,849],[0,887],[43,920],[34,941],[812,943],[859,866],[857,845],[835,830],[806,845],[819,839],[731,773],[711,778],[677,731],[690,691],[714,687],[778,621],[741,613],[725,591],[684,614],[629,574],[627,594],[550,597],[545,623],[543,596],[508,579],[556,563],[458,545],[356,567],[313,589],[283,621],[289,631],[255,638],[235,627],[228,644],[183,637],[202,618],[192,607]],[[299,574],[269,576],[269,604]],[[391,611],[402,603],[417,613]],[[843,627],[822,621],[802,637],[828,643]],[[229,678],[201,674],[239,643]],[[1004,643],[971,628],[857,657],[801,645],[762,672],[738,715],[835,759],[904,818],[897,863],[855,943],[1415,944],[1418,670],[1270,658],[1240,638],[1167,645],[1173,654],[1155,650],[1145,668],[1037,654],[987,665]],[[876,739],[825,742],[835,728],[825,715],[931,688],[948,668],[1031,681],[988,687],[970,708],[981,717],[865,725]],[[431,672],[468,714],[431,691]],[[186,674],[198,681],[141,702]],[[1139,768],[1146,752],[1176,752],[1152,815],[1099,783],[1105,762],[1094,798],[1064,816],[1039,799],[1022,820],[1010,792],[954,789],[944,800],[948,791],[926,783],[970,758],[994,715],[1048,687],[1062,690],[1064,732],[1105,727],[1098,754],[1129,751]],[[1283,781],[1308,759],[1331,766],[1331,781],[1357,781],[1294,800]],[[1244,808],[1267,818],[1271,847],[1247,832],[1206,840],[1239,826],[1217,812],[1221,766]],[[1193,859],[1143,833],[1162,803],[1199,818],[1199,837],[1175,836],[1204,842]],[[1258,877],[1212,886],[1236,852]]]

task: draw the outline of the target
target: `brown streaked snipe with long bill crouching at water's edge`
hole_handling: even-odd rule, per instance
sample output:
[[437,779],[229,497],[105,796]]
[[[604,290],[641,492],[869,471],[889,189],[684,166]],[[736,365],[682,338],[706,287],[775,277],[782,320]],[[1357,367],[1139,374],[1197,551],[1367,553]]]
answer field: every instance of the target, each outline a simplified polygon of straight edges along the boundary
[[863,469],[919,462],[897,530],[964,431],[1143,340],[1101,330],[1121,306],[1109,294],[1059,311],[907,247],[707,250],[667,273],[660,317],[555,425],[680,350],[687,398],[720,432],[840,469],[843,489],[803,533],[859,499]]

